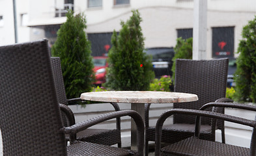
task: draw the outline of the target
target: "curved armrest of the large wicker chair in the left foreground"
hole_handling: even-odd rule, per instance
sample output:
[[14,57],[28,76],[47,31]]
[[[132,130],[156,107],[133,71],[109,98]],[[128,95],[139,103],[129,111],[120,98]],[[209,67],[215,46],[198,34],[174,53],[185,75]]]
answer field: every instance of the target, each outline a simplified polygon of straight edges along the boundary
[[[134,122],[137,126],[137,151],[143,151],[144,148],[144,122],[138,112],[134,110],[120,110],[116,112],[109,112],[106,114],[102,114],[100,116],[91,118],[89,120],[85,120],[80,123],[76,123],[70,127],[63,127],[61,131],[65,134],[75,135],[79,131],[83,131],[92,125],[96,125],[97,123],[104,122],[106,120],[110,120],[113,118],[118,118],[122,116],[130,116],[134,119]],[[72,140],[71,140],[72,141]]]

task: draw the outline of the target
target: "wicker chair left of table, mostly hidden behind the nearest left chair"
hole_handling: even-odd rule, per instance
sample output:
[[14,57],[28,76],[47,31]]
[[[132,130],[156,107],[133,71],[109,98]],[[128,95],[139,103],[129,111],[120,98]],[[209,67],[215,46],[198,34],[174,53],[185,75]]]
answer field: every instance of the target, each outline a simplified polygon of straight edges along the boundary
[[[66,92],[64,88],[64,81],[63,81],[63,73],[61,70],[61,60],[59,57],[51,57],[51,62],[53,65],[53,73],[55,78],[55,84],[57,88],[57,98],[59,103],[63,103],[67,105],[68,103],[76,103],[81,101],[80,98],[74,99],[67,99]],[[111,103],[116,111],[120,110],[119,105],[117,103]],[[74,125],[75,118],[72,110],[68,107],[61,106],[63,113],[63,123],[64,126]],[[70,114],[66,114],[70,113]],[[117,118],[116,120],[116,129],[85,129],[84,131],[79,132],[76,135],[77,140],[92,142],[96,144],[104,144],[104,145],[113,145],[117,144],[119,148],[121,148],[121,120]],[[67,137],[67,140],[69,138]]]

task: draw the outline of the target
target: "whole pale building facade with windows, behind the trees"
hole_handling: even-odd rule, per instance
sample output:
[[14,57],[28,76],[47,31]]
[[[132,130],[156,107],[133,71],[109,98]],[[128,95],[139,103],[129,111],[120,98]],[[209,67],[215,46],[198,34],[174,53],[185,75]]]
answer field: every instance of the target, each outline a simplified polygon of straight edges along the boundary
[[[18,42],[48,38],[50,45],[73,9],[87,19],[87,36],[92,55],[111,47],[113,30],[139,10],[145,47],[175,47],[178,37],[193,36],[193,0],[16,0]],[[7,5],[1,5],[5,3]],[[7,7],[8,6],[8,7]],[[14,42],[12,1],[0,0],[0,45]],[[206,59],[237,57],[242,27],[256,15],[255,0],[208,0]],[[2,16],[2,18],[1,18]],[[2,24],[1,24],[2,23]]]

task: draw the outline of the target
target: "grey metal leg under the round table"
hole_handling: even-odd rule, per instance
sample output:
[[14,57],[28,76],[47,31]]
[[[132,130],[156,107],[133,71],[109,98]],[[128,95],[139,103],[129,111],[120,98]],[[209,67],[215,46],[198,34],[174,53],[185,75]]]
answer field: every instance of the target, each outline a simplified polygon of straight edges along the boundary
[[[132,103],[131,109],[137,111],[141,117],[143,118],[143,121],[145,121],[145,104],[144,103]],[[131,149],[137,150],[137,134],[136,134],[136,124],[134,120],[131,122]]]

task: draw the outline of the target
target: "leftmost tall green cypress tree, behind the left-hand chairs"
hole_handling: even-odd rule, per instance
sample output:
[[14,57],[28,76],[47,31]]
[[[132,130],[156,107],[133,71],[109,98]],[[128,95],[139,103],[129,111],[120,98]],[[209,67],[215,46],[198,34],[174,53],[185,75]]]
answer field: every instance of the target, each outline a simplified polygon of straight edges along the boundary
[[86,19],[83,14],[66,14],[66,22],[57,32],[57,41],[53,44],[51,53],[60,57],[64,85],[67,98],[79,97],[82,92],[91,92],[93,62],[91,43],[87,40],[85,31]]

